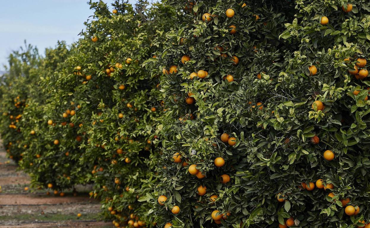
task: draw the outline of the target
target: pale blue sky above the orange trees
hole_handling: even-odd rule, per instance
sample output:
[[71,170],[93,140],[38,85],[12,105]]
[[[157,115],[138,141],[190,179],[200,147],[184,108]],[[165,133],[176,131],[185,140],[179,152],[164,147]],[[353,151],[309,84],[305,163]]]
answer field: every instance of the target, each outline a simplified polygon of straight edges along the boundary
[[[85,28],[83,23],[93,14],[88,1],[0,0],[0,71],[11,51],[24,46],[24,40],[37,46],[40,54],[58,40],[67,44],[77,41],[78,33]],[[103,1],[112,9],[114,0]]]

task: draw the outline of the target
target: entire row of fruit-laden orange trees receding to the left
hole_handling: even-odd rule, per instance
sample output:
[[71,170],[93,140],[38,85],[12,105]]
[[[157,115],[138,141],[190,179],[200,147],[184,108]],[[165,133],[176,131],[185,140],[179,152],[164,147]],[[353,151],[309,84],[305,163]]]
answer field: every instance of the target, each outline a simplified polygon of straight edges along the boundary
[[33,187],[94,183],[116,227],[370,227],[370,3],[115,1],[4,76]]

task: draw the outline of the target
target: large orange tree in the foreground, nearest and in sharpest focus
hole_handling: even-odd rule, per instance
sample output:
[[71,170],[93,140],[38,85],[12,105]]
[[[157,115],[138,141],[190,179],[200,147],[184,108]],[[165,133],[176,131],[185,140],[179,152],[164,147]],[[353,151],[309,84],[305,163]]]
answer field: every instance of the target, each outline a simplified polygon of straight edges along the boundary
[[167,3],[171,40],[144,63],[167,109],[161,182],[140,198],[158,226],[370,222],[370,3]]

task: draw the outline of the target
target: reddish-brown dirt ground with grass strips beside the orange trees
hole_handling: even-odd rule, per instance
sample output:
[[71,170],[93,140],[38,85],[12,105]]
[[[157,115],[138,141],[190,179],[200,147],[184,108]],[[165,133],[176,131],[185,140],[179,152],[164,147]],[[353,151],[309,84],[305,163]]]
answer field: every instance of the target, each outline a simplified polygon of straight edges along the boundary
[[[1,141],[0,141],[1,143]],[[78,186],[77,197],[47,195],[46,191],[25,191],[30,178],[17,171],[0,147],[0,228],[110,228],[111,222],[98,221],[100,204],[90,199],[89,186]],[[91,186],[90,186],[91,187]],[[81,193],[84,192],[84,193]],[[81,217],[77,214],[81,213]]]

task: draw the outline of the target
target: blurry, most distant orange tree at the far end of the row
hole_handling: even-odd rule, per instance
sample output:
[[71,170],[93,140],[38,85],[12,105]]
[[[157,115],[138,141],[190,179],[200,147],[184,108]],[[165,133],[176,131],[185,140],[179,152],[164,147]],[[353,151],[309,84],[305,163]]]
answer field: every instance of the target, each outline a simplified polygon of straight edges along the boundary
[[40,64],[38,50],[31,45],[21,47],[9,55],[9,68],[1,77],[0,133],[8,156],[15,161],[22,159],[27,147],[23,144],[20,122],[27,106],[28,85],[34,82],[32,72]]

